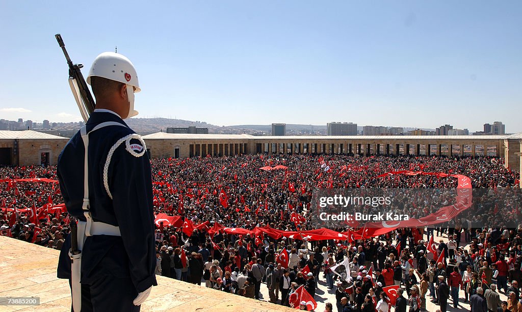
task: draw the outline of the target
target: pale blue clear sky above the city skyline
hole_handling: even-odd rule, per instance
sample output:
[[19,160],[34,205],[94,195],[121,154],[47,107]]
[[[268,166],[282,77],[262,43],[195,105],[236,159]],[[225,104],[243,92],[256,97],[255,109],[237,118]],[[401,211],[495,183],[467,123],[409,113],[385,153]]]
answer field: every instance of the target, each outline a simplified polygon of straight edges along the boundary
[[522,131],[522,2],[0,1],[0,118],[80,121],[68,68],[134,63],[138,117]]

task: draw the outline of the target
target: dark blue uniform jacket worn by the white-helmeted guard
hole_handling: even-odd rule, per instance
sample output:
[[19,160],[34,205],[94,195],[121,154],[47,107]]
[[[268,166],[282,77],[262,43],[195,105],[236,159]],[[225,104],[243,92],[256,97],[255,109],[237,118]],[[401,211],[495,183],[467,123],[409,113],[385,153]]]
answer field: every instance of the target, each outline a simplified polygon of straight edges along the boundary
[[[108,171],[109,189],[103,185],[103,166],[114,143],[134,131],[118,116],[94,112],[87,121],[87,131],[103,122],[107,126],[89,135],[89,200],[94,221],[120,227],[120,236],[87,237],[82,251],[81,283],[91,284],[100,278],[131,277],[138,292],[157,285],[154,269],[156,249],[152,211],[152,179],[147,153],[135,157],[125,150],[125,142],[114,152]],[[141,146],[139,140],[131,144]],[[139,146],[135,149],[139,152]],[[141,146],[142,148],[145,148]],[[84,197],[84,143],[78,133],[72,137],[58,157],[57,175],[69,214],[86,221],[81,209]],[[58,278],[70,278],[70,235],[58,261]]]

